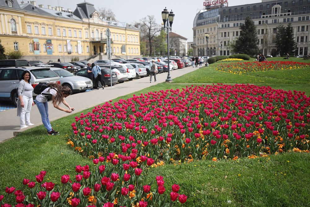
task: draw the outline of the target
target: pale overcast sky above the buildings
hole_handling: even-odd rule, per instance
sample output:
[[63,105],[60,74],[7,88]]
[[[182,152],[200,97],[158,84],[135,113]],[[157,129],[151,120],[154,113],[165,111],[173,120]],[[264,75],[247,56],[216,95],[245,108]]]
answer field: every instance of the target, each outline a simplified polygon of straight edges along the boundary
[[[20,2],[21,0],[19,0]],[[24,0],[27,2],[27,0]],[[84,0],[36,0],[37,6],[43,4],[52,7],[60,6],[65,9],[74,9],[78,3]],[[158,24],[162,23],[162,11],[167,7],[168,11],[173,11],[175,19],[172,31],[187,38],[188,42],[193,41],[193,21],[198,11],[203,9],[204,0],[86,0],[94,4],[96,9],[105,7],[112,9],[115,17],[120,22],[134,23],[139,22],[143,17],[154,15]],[[242,5],[246,3],[259,3],[261,0],[227,0],[228,6]]]

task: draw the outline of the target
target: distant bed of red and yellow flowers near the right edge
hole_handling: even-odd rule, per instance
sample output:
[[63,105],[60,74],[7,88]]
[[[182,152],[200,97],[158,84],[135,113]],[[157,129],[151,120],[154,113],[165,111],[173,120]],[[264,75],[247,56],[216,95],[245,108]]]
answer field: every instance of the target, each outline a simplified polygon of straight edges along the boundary
[[240,62],[218,65],[215,70],[232,74],[244,74],[247,72],[267,70],[294,70],[309,67],[309,63],[292,61],[266,61],[266,62]]

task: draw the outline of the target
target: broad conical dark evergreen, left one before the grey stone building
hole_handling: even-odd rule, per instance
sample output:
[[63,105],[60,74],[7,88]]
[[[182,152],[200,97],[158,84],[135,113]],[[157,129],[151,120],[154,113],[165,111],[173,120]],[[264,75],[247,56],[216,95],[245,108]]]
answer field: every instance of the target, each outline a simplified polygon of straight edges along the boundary
[[254,56],[259,51],[257,46],[258,38],[256,26],[249,16],[246,17],[244,24],[240,26],[240,30],[239,38],[232,45],[233,52]]

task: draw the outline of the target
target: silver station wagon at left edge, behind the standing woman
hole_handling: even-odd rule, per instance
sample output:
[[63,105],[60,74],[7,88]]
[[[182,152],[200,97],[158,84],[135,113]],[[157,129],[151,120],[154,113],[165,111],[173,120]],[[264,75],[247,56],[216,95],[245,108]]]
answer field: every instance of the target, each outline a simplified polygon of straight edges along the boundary
[[[28,64],[28,62],[27,62]],[[50,68],[44,67],[4,67],[0,68],[0,99],[12,101],[12,103],[17,105],[17,97],[15,97],[15,92],[21,74],[28,70],[31,75],[30,83],[33,88],[39,82],[52,83],[56,82],[60,84],[59,76],[56,75]],[[33,93],[35,97],[36,94]]]

